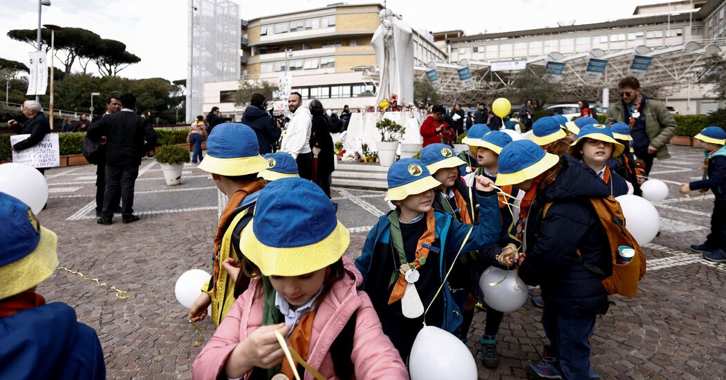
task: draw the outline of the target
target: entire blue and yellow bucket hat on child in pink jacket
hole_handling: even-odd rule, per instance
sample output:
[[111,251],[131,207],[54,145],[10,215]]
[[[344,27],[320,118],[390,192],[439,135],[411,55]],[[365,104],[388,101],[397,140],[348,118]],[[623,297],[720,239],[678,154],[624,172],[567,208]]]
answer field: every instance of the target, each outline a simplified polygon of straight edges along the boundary
[[350,242],[350,231],[319,186],[281,178],[259,192],[255,215],[240,236],[240,252],[264,276],[301,276],[340,260]]

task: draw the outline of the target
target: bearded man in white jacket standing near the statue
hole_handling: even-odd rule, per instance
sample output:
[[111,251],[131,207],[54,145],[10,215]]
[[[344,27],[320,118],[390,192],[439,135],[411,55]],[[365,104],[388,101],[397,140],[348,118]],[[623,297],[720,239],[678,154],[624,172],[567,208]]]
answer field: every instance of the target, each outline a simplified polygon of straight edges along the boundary
[[313,122],[310,110],[303,106],[303,97],[297,92],[290,93],[287,108],[293,112],[293,117],[287,123],[280,150],[289,153],[298,162],[298,172],[302,178],[311,179],[313,153],[310,149],[310,131]]

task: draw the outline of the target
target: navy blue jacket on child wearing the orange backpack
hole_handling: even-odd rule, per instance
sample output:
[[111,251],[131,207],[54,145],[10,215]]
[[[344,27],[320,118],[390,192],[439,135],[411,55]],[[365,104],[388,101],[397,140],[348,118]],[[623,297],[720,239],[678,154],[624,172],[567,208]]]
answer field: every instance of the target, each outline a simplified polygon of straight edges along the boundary
[[[608,197],[605,185],[582,162],[565,155],[565,169],[555,181],[540,189],[529,209],[524,236],[526,252],[519,276],[539,285],[545,307],[570,317],[588,317],[608,311],[605,278],[576,263],[576,252],[587,263],[612,274],[610,244],[590,198]],[[552,202],[547,215],[542,210]]]

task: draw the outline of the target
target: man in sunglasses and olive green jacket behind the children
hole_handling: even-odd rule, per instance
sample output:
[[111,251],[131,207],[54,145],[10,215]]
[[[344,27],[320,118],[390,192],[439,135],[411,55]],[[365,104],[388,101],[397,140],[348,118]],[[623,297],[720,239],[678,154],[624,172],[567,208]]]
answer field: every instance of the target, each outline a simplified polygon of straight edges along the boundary
[[623,122],[630,126],[632,148],[637,158],[645,162],[645,176],[648,176],[653,158],[671,157],[666,144],[676,133],[676,120],[663,103],[648,99],[640,91],[637,78],[623,78],[618,88],[620,102],[608,110],[609,123]]

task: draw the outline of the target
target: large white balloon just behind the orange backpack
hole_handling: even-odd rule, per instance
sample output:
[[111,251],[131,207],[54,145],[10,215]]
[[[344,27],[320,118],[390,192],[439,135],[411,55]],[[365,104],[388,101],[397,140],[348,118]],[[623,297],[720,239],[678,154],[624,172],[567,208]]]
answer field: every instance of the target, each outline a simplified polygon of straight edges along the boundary
[[655,239],[658,229],[661,228],[661,217],[655,206],[647,199],[635,195],[621,195],[615,200],[620,202],[623,209],[625,227],[640,247]]

